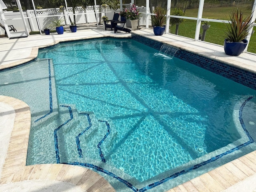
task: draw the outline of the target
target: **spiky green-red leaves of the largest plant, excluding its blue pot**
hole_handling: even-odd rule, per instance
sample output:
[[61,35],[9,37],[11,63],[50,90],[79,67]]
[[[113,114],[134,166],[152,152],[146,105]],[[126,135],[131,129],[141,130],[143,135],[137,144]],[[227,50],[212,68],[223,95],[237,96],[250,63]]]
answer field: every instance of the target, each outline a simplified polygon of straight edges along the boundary
[[252,20],[252,14],[244,17],[240,10],[240,14],[237,10],[232,10],[230,15],[230,21],[226,24],[228,30],[225,32],[225,38],[230,42],[241,42],[249,34],[249,30],[252,27],[250,24]]

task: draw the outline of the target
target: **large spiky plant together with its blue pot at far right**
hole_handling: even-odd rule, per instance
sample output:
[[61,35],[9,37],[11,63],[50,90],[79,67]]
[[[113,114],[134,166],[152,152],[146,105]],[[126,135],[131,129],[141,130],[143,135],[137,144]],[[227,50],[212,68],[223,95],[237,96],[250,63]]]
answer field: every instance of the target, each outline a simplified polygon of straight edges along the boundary
[[252,27],[252,15],[244,17],[240,10],[231,11],[230,21],[226,24],[228,30],[225,32],[224,51],[227,55],[238,56],[246,48],[248,41],[245,39]]

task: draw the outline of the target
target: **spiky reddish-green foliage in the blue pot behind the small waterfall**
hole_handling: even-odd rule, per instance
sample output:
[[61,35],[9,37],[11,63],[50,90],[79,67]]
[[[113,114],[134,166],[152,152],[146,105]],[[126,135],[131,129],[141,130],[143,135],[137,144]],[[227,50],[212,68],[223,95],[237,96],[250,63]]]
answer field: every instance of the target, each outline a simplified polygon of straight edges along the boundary
[[167,9],[162,7],[155,7],[151,16],[152,26],[164,26],[166,24]]

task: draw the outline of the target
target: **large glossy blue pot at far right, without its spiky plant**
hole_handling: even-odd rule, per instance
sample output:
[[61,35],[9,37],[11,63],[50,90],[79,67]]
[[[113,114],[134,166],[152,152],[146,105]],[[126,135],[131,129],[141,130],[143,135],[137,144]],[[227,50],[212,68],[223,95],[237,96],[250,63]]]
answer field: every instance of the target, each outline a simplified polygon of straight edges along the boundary
[[247,44],[248,44],[248,41],[246,39],[242,40],[242,42],[228,42],[225,39],[224,51],[227,55],[238,56],[244,51]]

